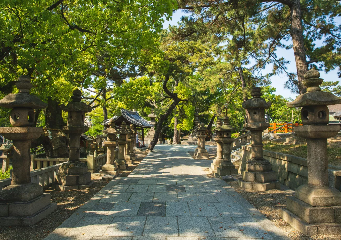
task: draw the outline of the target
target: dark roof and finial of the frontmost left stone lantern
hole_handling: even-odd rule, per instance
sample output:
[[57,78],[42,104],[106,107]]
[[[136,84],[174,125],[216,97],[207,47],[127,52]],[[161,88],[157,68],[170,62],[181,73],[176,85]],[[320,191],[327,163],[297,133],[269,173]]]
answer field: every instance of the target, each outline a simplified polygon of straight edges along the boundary
[[30,94],[32,83],[29,76],[19,76],[19,79],[15,85],[19,89],[19,93],[11,93],[5,96],[0,100],[0,107],[32,109],[41,109],[47,107],[47,104],[40,100],[39,97]]

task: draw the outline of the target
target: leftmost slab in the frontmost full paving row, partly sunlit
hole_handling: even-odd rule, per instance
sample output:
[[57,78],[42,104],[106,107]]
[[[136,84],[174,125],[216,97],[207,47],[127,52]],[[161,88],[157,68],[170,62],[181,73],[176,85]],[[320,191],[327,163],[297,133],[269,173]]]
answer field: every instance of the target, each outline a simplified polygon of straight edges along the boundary
[[79,220],[64,237],[94,237],[102,236],[109,224],[113,221],[108,216],[89,216]]

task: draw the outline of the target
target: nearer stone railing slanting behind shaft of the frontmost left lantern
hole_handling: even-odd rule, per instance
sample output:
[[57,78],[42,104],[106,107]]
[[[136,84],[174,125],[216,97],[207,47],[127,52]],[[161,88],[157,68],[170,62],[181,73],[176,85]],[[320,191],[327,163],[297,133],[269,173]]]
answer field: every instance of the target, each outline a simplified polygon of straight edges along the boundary
[[[56,174],[58,173],[59,167],[63,163],[59,163],[53,166],[49,166],[46,168],[41,168],[38,170],[34,170],[30,172],[31,182],[38,183],[44,188],[51,186],[51,184],[56,179]],[[0,189],[9,186],[12,181],[12,170],[11,170],[11,177],[0,180]]]

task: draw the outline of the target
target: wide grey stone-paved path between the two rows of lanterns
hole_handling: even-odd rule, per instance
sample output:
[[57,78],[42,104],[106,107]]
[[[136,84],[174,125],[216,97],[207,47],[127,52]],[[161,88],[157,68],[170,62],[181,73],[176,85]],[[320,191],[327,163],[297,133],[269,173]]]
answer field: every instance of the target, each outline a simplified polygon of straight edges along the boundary
[[155,146],[45,240],[287,240],[227,183],[206,176],[212,159],[193,159],[195,147]]

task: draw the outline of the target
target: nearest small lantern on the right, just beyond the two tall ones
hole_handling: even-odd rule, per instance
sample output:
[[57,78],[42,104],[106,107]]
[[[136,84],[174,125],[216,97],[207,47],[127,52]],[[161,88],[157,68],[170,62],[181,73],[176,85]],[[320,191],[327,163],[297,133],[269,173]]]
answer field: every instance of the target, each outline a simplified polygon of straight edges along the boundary
[[230,121],[227,116],[223,118],[223,123],[224,125],[220,127],[220,131],[223,135],[220,139],[223,143],[223,160],[217,168],[217,174],[215,174],[216,177],[238,174],[238,169],[236,169],[231,162],[231,143],[234,141],[234,138],[231,138],[231,132],[235,130],[235,128],[230,125]]

